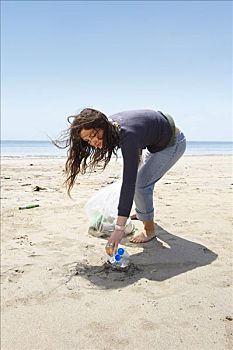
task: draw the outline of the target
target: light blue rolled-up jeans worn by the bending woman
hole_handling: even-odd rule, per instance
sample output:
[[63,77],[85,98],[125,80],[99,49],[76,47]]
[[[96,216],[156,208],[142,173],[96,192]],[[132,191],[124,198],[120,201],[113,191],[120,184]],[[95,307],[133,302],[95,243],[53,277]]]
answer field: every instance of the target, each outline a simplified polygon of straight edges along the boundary
[[141,221],[154,219],[153,190],[155,183],[178,161],[186,149],[186,139],[179,131],[174,146],[160,152],[145,150],[138,169],[134,203],[136,216]]

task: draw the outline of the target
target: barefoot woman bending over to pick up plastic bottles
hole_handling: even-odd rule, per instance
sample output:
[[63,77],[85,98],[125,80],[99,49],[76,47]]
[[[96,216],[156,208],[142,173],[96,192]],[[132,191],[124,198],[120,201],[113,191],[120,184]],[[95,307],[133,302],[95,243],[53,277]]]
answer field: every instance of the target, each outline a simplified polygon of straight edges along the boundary
[[[124,237],[133,201],[136,218],[143,230],[131,242],[144,243],[155,237],[153,189],[155,183],[178,161],[186,148],[183,133],[173,118],[153,110],[124,111],[108,119],[102,112],[86,108],[73,118],[65,147],[68,193],[76,176],[98,164],[106,167],[112,154],[121,148],[123,181],[115,230],[108,240],[112,251]],[[140,161],[142,150],[146,149]]]

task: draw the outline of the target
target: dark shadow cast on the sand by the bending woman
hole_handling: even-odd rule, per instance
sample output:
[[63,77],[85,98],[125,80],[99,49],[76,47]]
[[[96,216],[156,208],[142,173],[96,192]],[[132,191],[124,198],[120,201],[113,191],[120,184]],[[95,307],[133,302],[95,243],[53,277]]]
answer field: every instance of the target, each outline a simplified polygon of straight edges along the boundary
[[[181,273],[211,264],[217,254],[207,247],[177,237],[157,225],[157,239],[140,245],[143,251],[130,255],[126,271],[116,271],[108,264],[92,266],[73,265],[73,277],[81,276],[100,289],[118,289],[131,285],[141,278],[164,281]],[[122,241],[122,245],[135,244]]]

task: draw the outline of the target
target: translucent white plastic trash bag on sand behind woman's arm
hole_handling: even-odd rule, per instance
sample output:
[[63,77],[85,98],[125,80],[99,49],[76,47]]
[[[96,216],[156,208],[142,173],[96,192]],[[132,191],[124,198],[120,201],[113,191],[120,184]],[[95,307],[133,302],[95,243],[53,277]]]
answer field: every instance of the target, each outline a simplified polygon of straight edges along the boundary
[[[110,235],[114,231],[121,181],[116,181],[96,192],[86,203],[85,211],[90,224],[89,233],[96,237]],[[129,218],[125,232],[132,233],[134,227]]]

